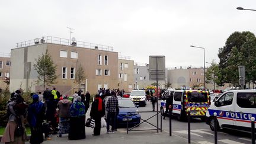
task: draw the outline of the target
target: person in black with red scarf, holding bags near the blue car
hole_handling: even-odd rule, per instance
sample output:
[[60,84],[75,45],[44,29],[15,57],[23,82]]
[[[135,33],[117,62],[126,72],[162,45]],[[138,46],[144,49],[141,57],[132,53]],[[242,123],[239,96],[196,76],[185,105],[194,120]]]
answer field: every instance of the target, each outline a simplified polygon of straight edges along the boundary
[[92,102],[90,116],[95,120],[94,136],[100,135],[101,130],[101,117],[105,115],[105,104],[101,100],[100,95],[95,96],[95,100]]

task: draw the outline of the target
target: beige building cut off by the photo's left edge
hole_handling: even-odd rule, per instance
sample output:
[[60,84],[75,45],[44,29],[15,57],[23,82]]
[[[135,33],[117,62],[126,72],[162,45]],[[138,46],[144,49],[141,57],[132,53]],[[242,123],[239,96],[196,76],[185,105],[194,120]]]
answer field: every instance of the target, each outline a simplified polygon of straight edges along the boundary
[[[9,73],[10,73],[10,54],[9,53],[0,53],[0,89],[4,90],[7,88],[7,83],[5,81],[9,81]],[[0,91],[1,91],[0,90]]]

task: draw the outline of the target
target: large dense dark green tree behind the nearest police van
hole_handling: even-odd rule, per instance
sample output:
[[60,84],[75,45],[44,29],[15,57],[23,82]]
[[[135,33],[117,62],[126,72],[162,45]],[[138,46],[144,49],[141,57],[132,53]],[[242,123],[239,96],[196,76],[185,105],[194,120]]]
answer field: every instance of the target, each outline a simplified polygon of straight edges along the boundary
[[231,83],[234,86],[239,85],[238,66],[244,65],[246,71],[246,80],[255,81],[256,69],[256,38],[249,31],[231,34],[226,40],[223,48],[219,49],[219,68],[220,82],[219,85]]

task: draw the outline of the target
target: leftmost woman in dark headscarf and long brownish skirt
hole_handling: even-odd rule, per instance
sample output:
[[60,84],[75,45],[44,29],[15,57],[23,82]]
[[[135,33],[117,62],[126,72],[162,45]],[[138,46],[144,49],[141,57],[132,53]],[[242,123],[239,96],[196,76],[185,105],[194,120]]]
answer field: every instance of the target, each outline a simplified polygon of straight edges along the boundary
[[[8,101],[8,123],[1,139],[2,143],[25,143],[24,116],[27,114],[27,104],[24,103],[24,99],[19,92],[19,90],[15,91]],[[18,127],[20,127],[19,130]],[[19,132],[17,133],[17,131]]]

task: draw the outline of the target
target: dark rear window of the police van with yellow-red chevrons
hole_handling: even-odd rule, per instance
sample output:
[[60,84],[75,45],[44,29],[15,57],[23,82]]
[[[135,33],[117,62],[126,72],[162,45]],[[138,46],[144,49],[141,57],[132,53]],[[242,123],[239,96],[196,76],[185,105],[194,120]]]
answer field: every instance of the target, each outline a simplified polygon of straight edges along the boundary
[[188,92],[187,95],[188,101],[192,103],[204,103],[208,101],[206,92]]

